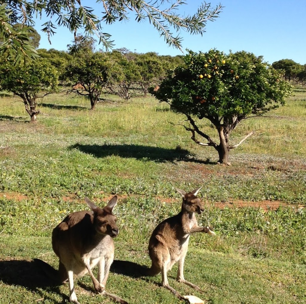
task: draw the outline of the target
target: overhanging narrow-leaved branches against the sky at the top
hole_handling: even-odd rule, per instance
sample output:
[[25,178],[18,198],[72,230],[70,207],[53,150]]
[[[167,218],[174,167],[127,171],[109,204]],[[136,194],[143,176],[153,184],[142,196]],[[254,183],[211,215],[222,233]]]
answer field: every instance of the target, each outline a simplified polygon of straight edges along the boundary
[[[1,2],[0,2],[1,3]],[[94,9],[87,6],[84,0],[10,0],[0,6],[0,54],[6,53],[10,57],[15,56],[17,61],[21,55],[29,57],[37,56],[35,48],[29,39],[29,32],[24,27],[22,31],[14,30],[12,25],[21,23],[34,26],[35,16],[41,17],[46,13],[49,20],[43,24],[43,32],[49,38],[55,34],[57,27],[67,27],[76,37],[79,30],[84,30],[86,35],[97,34],[99,43],[106,51],[114,46],[111,35],[103,31],[104,24],[113,24],[117,21],[129,20],[130,14],[137,22],[148,20],[160,33],[168,45],[181,49],[182,38],[176,35],[181,29],[190,34],[205,32],[208,20],[215,20],[222,6],[211,8],[210,3],[199,3],[199,8],[193,15],[180,16],[177,9],[186,4],[184,0],[174,2],[134,1],[134,0],[98,0],[99,11],[102,16],[97,16]],[[55,21],[54,21],[55,20]],[[174,31],[174,33],[173,33]]]

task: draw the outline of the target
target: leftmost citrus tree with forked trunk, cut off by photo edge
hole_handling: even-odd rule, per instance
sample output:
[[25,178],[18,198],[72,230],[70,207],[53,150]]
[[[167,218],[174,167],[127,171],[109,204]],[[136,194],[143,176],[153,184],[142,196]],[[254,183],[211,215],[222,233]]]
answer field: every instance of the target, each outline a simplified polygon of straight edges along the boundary
[[26,64],[1,60],[0,88],[19,96],[31,121],[35,122],[40,113],[36,108],[37,99],[57,91],[58,71],[44,58]]

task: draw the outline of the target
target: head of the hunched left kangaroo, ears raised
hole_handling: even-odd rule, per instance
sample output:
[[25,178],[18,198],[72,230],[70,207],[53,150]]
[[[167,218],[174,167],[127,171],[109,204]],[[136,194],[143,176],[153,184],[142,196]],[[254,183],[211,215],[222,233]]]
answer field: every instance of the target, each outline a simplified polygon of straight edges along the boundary
[[94,212],[93,223],[96,232],[116,237],[119,233],[119,228],[116,225],[117,218],[113,215],[112,211],[117,204],[117,196],[115,195],[104,208],[96,206],[88,197],[85,197],[85,201]]

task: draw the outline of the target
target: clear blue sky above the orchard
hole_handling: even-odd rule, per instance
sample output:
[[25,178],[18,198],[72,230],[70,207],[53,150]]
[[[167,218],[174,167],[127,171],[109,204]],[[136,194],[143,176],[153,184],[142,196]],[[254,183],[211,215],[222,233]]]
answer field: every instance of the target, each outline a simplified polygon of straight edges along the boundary
[[[196,12],[201,1],[185,0],[178,12],[181,15]],[[208,2],[208,1],[207,1]],[[211,1],[212,7],[221,2],[224,8],[214,22],[208,22],[203,36],[189,35],[181,31],[183,53],[169,47],[157,30],[148,22],[137,23],[133,13],[128,22],[118,22],[105,26],[103,31],[112,35],[114,48],[125,47],[138,53],[157,52],[159,55],[185,54],[186,49],[206,52],[211,48],[228,53],[229,50],[248,51],[273,63],[281,59],[292,59],[306,63],[306,0],[221,0]],[[93,0],[83,0],[83,5],[93,7],[100,16],[101,4]],[[51,37],[40,31],[47,20],[37,20],[35,29],[41,35],[39,48],[67,50],[73,40],[65,28],[58,28]],[[83,34],[82,32],[80,32]],[[102,48],[100,45],[96,49]]]

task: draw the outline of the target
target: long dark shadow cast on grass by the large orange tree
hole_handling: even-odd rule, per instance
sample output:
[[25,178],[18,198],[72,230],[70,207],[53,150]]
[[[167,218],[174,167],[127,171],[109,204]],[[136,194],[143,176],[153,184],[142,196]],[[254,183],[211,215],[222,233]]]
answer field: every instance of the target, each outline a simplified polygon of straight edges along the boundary
[[68,147],[70,150],[76,149],[83,153],[91,154],[95,157],[107,157],[110,155],[116,155],[124,158],[136,158],[144,161],[177,161],[188,160],[190,152],[185,149],[166,149],[160,147],[141,146],[134,144],[122,144],[122,145],[82,145],[76,143],[75,145]]

